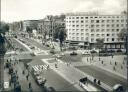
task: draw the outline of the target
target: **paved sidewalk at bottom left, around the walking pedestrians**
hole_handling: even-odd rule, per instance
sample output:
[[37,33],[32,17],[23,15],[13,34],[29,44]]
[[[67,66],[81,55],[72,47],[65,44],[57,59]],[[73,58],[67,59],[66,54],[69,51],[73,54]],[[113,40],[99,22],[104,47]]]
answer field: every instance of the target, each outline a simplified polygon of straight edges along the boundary
[[[32,84],[32,89],[33,89],[33,92],[42,92],[42,88],[40,88],[40,86],[37,85],[37,83],[35,82],[35,79],[32,77],[31,73],[29,73],[29,71],[25,68],[23,62],[18,62],[18,64],[14,64],[15,62],[17,61],[11,61],[11,63],[13,64],[13,69],[14,69],[14,72],[17,71],[17,75],[18,75],[18,81],[19,81],[19,84],[21,85],[21,90],[23,92],[27,91],[29,92],[29,82],[31,82]],[[23,70],[25,71],[25,74],[23,74]],[[8,74],[8,69],[6,68],[5,71],[4,71],[4,74],[5,74],[5,82],[9,82],[9,79],[11,79],[11,75]],[[27,80],[26,76],[29,74],[29,78]],[[13,87],[13,84],[7,88],[6,90],[10,91],[12,90],[14,87]]]

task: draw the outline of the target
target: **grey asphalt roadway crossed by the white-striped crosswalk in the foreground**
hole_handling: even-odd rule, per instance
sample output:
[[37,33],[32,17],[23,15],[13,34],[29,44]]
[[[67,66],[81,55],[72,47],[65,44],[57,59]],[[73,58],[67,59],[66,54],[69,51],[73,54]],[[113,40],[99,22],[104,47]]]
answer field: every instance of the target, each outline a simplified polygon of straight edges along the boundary
[[[41,60],[33,60],[31,65],[45,65]],[[52,69],[43,70],[41,75],[47,79],[46,86],[53,87],[56,91],[78,91],[73,84],[66,81]]]

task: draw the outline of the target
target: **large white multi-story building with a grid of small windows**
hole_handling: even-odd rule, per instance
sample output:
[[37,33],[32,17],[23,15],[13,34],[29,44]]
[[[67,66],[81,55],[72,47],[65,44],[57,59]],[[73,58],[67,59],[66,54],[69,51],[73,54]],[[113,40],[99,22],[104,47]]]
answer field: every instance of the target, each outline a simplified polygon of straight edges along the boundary
[[96,39],[104,39],[106,48],[124,48],[118,34],[127,29],[126,15],[68,13],[65,23],[67,40],[76,45],[93,48]]

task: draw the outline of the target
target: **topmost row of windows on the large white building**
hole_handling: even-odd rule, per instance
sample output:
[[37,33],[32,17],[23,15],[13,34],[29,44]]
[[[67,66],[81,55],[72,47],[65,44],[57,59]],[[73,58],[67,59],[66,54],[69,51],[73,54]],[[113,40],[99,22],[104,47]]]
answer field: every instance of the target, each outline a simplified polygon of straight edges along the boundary
[[126,16],[71,16],[66,19],[89,19],[89,18],[126,18]]

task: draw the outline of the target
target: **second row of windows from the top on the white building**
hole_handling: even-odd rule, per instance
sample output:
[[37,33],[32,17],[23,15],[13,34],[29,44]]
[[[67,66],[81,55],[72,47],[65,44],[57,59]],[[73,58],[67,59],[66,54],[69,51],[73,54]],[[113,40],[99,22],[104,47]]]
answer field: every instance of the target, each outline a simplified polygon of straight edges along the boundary
[[125,22],[125,20],[81,20],[81,21],[79,21],[79,20],[76,20],[76,21],[66,21],[66,23],[88,23],[88,22],[91,22],[91,23],[105,23],[105,22],[107,22],[107,23],[110,23],[110,22]]

